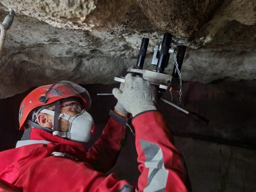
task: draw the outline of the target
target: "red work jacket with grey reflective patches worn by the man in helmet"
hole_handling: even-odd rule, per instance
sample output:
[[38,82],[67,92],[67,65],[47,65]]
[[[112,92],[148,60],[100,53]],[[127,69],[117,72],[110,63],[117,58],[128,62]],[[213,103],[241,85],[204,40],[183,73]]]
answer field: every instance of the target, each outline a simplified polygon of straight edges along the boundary
[[[141,172],[138,186],[117,180],[114,174],[106,177],[102,173],[114,165],[125,137],[124,126],[113,118],[89,150],[81,143],[31,129],[31,140],[50,143],[2,151],[0,178],[23,191],[187,191],[181,155],[170,142],[162,115],[147,111],[136,116],[132,124]],[[65,152],[78,160],[54,157],[53,151]]]

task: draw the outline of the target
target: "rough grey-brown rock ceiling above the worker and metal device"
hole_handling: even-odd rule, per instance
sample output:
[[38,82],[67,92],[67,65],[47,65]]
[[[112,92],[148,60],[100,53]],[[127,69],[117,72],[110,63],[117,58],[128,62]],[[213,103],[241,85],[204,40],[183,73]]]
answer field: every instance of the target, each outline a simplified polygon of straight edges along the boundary
[[[146,68],[163,34],[188,47],[185,81],[255,78],[255,0],[1,0],[0,18],[16,15],[0,61],[0,98],[68,79],[114,83],[135,65],[148,37]],[[166,73],[171,73],[170,59]]]

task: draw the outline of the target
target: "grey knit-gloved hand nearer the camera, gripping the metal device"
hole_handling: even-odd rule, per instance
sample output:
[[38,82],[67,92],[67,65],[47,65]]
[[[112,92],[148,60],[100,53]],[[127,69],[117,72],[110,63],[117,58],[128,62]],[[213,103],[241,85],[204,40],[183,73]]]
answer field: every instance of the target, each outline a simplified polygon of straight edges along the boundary
[[114,88],[113,94],[118,102],[132,116],[148,110],[156,110],[156,89],[149,81],[142,77],[133,77],[127,74],[125,77],[124,91]]

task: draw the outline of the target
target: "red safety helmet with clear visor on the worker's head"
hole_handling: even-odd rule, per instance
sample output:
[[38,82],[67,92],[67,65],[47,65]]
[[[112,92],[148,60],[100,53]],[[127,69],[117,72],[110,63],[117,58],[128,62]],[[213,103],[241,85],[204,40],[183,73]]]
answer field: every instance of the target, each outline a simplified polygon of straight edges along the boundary
[[70,81],[60,81],[51,85],[39,86],[31,91],[21,102],[19,110],[19,130],[25,130],[24,123],[34,109],[54,105],[56,101],[66,98],[77,98],[86,110],[91,107],[91,98],[87,90]]

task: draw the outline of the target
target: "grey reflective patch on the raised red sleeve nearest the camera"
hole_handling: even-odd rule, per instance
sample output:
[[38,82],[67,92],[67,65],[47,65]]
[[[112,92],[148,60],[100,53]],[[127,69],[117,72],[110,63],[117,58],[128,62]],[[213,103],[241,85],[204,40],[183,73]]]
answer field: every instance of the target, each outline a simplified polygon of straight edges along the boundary
[[146,156],[145,167],[149,168],[148,183],[144,191],[165,191],[169,172],[165,170],[161,148],[144,140],[140,140],[140,145]]

